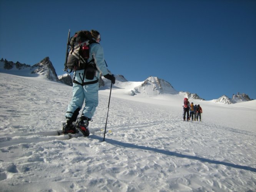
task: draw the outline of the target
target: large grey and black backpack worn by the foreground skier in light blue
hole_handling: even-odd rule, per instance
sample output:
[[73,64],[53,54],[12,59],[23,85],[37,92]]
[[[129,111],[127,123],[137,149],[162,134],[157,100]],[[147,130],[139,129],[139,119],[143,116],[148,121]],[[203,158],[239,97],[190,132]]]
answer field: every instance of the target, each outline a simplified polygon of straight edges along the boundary
[[66,61],[66,68],[71,71],[86,70],[88,68],[91,74],[88,77],[86,76],[86,79],[93,79],[96,71],[95,63],[88,61],[91,43],[96,43],[96,41],[92,39],[90,31],[77,31],[68,42],[70,50]]

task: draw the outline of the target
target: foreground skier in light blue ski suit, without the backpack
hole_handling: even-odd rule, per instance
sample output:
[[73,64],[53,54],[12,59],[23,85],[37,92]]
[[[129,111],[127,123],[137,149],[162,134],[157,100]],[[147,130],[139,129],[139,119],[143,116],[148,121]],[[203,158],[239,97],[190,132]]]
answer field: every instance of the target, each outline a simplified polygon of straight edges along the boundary
[[[65,126],[63,126],[63,134],[76,133],[77,128],[83,132],[84,136],[89,136],[90,132],[88,124],[89,121],[92,121],[91,118],[98,106],[98,82],[100,79],[100,73],[105,78],[109,79],[111,83],[115,84],[115,76],[108,71],[104,60],[103,48],[100,45],[100,33],[96,30],[91,30],[90,32],[94,42],[89,45],[89,61],[94,59],[96,73],[93,79],[84,78],[83,80],[83,77],[85,77],[83,74],[85,69],[78,69],[74,71],[72,89],[73,97],[71,102],[68,104],[66,111],[66,123]],[[81,117],[76,122],[76,125],[74,125],[73,122],[76,121],[79,111],[83,106],[83,102],[85,102],[85,107],[83,108]]]

